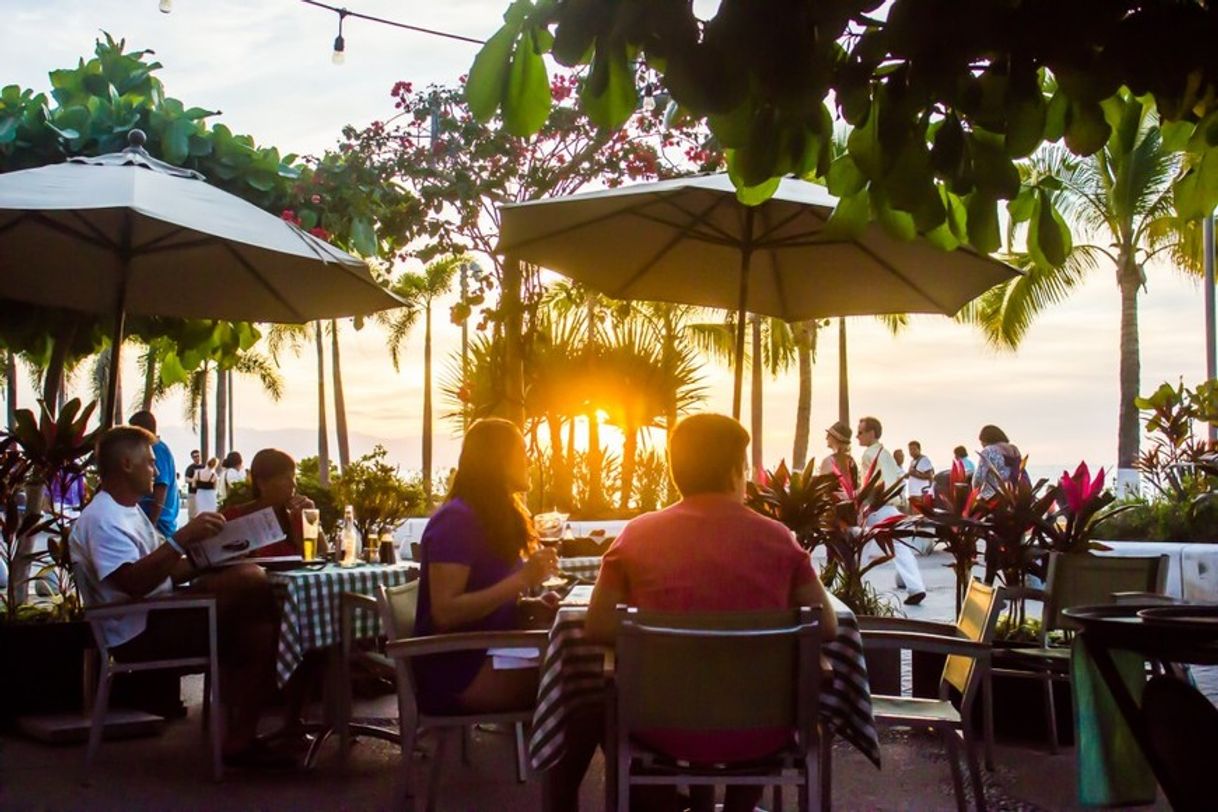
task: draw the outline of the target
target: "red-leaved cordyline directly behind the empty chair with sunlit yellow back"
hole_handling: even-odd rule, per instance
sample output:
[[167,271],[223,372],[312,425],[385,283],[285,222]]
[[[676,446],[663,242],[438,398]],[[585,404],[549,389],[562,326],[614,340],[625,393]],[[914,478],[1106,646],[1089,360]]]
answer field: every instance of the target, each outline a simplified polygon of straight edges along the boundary
[[924,492],[921,498],[911,499],[910,506],[921,517],[921,534],[943,542],[951,554],[959,615],[977,565],[977,542],[987,533],[988,504],[980,498],[980,488],[972,486],[963,463],[955,460],[948,487]]

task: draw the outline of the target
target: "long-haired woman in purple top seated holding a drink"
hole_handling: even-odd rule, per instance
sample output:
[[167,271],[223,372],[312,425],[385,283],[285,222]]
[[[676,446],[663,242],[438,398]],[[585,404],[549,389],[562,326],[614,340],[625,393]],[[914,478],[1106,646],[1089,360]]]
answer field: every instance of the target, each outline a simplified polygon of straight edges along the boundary
[[[541,603],[521,595],[557,571],[558,556],[537,547],[519,498],[527,489],[520,430],[498,419],[470,426],[448,499],[419,545],[417,635],[520,628],[520,604]],[[496,671],[486,651],[418,657],[414,673],[432,713],[527,707],[537,696],[536,668]]]

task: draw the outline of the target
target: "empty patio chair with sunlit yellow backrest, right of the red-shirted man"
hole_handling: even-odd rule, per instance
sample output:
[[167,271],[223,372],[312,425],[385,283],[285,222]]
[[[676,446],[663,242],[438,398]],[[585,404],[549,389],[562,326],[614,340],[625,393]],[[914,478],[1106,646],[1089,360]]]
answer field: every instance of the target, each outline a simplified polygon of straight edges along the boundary
[[[960,771],[960,741],[965,744],[968,775],[978,810],[985,808],[977,746],[973,740],[972,709],[978,694],[984,695],[983,727],[987,762],[991,765],[993,698],[990,695],[990,642],[998,625],[1002,590],[973,581],[960,609],[955,626],[890,617],[860,617],[864,649],[909,649],[948,655],[939,681],[939,699],[872,695],[871,709],[876,723],[888,727],[911,727],[939,733],[951,765],[951,782],[956,806],[967,808],[963,775]],[[960,710],[951,704],[950,694],[960,691]]]

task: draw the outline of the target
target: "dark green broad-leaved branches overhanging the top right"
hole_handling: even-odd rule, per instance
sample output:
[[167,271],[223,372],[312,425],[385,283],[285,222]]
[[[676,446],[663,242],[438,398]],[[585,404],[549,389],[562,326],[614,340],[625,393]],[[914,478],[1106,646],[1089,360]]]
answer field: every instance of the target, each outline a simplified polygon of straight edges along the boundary
[[[549,55],[588,66],[581,107],[616,129],[639,85],[659,77],[675,114],[706,121],[726,149],[742,198],[769,196],[787,174],[828,177],[842,228],[875,217],[905,236],[990,252],[998,202],[1019,192],[1013,161],[1045,141],[1100,151],[1119,125],[1110,102],[1128,86],[1199,133],[1174,183],[1181,208],[1218,203],[1218,67],[1206,57],[1218,19],[1206,4],[1069,4],[1051,26],[1033,2],[895,0],[881,15],[882,5],[723,2],[703,16],[691,4],[515,0],[470,68],[470,110],[536,131],[553,103]],[[836,161],[831,103],[855,128]],[[1057,265],[1066,229],[1051,201],[1045,209],[1049,228],[1029,241]]]

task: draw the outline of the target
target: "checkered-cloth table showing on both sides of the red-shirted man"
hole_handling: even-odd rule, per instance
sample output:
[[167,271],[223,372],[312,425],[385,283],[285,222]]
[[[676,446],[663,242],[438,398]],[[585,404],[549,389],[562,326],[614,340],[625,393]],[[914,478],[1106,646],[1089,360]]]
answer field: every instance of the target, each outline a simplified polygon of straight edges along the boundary
[[[859,620],[834,595],[829,601],[838,629],[833,639],[821,644],[832,670],[832,678],[820,690],[821,721],[879,767],[879,735],[872,718]],[[587,606],[560,606],[551,627],[529,740],[530,763],[540,772],[557,765],[565,754],[568,723],[576,711],[605,700],[609,649],[587,640]]]

